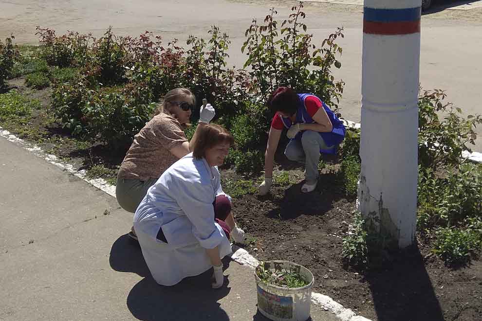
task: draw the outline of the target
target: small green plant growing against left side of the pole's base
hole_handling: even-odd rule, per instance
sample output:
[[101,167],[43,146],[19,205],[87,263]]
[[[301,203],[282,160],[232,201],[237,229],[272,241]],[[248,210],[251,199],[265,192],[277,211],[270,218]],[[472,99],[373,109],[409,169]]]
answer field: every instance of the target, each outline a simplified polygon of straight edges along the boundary
[[353,266],[368,264],[367,232],[365,220],[360,213],[354,215],[348,235],[343,238],[341,255]]

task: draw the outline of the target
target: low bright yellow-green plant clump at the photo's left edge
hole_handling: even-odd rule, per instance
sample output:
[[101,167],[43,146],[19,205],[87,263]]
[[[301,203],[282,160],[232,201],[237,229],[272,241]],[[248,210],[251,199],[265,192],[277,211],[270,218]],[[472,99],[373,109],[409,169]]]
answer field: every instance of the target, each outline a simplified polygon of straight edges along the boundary
[[12,89],[9,92],[0,94],[0,121],[13,116],[28,116],[32,109],[39,106],[39,101],[28,100],[19,94],[17,90]]

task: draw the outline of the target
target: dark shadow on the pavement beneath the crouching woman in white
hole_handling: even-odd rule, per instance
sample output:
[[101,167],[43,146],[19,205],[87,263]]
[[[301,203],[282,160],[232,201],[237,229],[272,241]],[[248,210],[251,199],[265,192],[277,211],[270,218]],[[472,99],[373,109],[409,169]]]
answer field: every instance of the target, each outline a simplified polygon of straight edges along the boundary
[[[224,269],[229,258],[222,260]],[[185,278],[177,285],[163,286],[152,278],[139,243],[127,234],[119,237],[111,247],[111,267],[120,272],[136,273],[144,279],[137,283],[127,297],[127,306],[138,320],[145,321],[229,321],[217,301],[228,295],[231,288],[225,277],[221,289],[211,288],[212,268],[204,273]]]

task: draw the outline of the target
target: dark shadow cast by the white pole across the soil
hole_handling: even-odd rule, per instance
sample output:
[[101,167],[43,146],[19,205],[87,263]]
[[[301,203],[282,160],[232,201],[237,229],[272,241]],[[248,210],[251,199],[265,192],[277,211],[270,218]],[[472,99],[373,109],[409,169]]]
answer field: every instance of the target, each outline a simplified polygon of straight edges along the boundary
[[388,253],[364,274],[378,321],[444,321],[418,246]]

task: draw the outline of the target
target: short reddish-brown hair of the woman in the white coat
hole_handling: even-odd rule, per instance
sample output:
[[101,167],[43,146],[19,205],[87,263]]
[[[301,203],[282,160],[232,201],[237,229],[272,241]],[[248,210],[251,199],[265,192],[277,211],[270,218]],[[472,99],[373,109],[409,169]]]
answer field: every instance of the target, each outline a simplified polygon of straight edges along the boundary
[[199,128],[192,155],[196,159],[204,158],[206,150],[221,143],[234,143],[234,137],[221,125],[207,124]]

